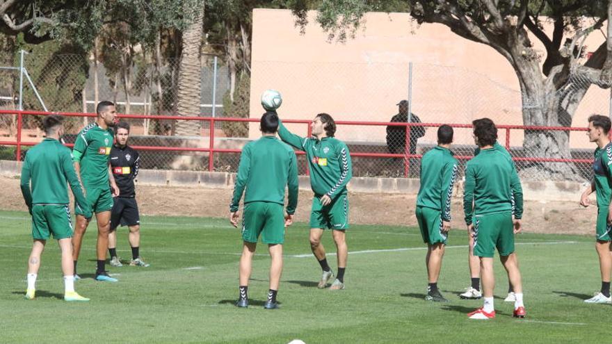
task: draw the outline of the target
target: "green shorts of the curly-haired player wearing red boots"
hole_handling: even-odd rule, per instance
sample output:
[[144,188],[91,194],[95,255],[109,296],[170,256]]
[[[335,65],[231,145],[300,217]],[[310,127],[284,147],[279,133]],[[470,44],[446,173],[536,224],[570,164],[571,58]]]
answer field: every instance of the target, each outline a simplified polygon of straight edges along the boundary
[[492,258],[497,247],[500,256],[514,252],[512,213],[475,215],[474,256]]

